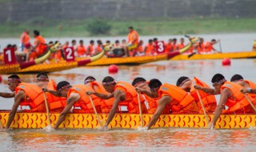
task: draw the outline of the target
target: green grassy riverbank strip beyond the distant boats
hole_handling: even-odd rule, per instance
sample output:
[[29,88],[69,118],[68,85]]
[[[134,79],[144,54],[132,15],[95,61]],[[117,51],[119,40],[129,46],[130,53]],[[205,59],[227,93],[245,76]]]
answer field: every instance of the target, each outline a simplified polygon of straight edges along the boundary
[[[140,35],[176,34],[223,34],[256,32],[256,18],[158,18],[128,21],[108,21],[111,28],[107,34],[90,34],[89,20],[82,21],[27,21],[3,23],[0,25],[0,38],[19,38],[23,30],[37,29],[47,38],[66,37],[111,37],[126,36],[128,26],[134,26]],[[60,30],[62,26],[62,30]]]

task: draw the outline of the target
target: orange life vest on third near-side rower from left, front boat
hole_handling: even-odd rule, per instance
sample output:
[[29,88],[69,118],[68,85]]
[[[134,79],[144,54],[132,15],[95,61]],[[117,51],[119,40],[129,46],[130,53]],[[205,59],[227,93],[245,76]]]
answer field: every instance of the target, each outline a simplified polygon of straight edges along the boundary
[[[127,82],[117,82],[116,86],[114,86],[114,90],[122,90],[126,94],[126,100],[119,102],[119,106],[127,106],[127,110],[130,114],[139,114],[138,95],[134,86]],[[145,100],[142,97],[142,94],[139,94],[139,98],[142,103],[142,113],[146,113]]]

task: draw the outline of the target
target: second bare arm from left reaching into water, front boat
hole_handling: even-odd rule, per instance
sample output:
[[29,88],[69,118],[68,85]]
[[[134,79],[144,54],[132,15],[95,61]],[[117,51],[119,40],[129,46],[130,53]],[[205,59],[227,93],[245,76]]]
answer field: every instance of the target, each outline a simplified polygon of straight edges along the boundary
[[54,130],[58,129],[58,126],[60,126],[62,124],[62,122],[66,118],[66,114],[68,114],[70,112],[74,102],[77,102],[79,100],[79,98],[80,98],[79,94],[75,94],[75,93],[70,94],[70,97],[67,98],[67,100],[66,100],[66,106],[65,106],[64,110],[58,117],[58,121],[57,121],[56,125],[54,126]]

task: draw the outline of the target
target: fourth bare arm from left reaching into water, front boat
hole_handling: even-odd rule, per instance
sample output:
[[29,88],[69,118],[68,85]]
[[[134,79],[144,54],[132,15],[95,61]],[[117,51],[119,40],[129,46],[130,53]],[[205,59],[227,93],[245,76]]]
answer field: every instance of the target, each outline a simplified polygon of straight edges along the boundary
[[162,114],[162,110],[164,110],[166,108],[166,106],[170,103],[171,97],[170,96],[163,96],[159,102],[158,102],[158,108],[155,111],[154,115],[152,116],[149,124],[146,126],[147,129],[149,130],[151,128],[151,126],[153,126],[155,124],[155,122],[158,121],[158,118],[160,117],[160,115]]

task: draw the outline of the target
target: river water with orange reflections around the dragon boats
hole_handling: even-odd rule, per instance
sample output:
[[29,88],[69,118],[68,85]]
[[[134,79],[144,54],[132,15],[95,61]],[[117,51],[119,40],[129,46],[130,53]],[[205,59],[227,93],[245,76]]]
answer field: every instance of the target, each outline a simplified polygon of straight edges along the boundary
[[[206,35],[209,36],[209,35]],[[213,35],[207,37],[212,38]],[[216,35],[215,38],[217,38]],[[242,36],[245,36],[242,38]],[[250,50],[252,34],[222,35],[222,50],[229,51],[226,41],[234,42],[230,51]],[[232,39],[233,37],[233,39]],[[162,39],[166,37],[161,37]],[[177,37],[178,38],[178,37]],[[218,37],[219,38],[219,37]],[[231,38],[231,39],[230,39]],[[244,42],[242,45],[235,43]],[[244,41],[243,39],[246,39]],[[65,39],[63,39],[65,40]],[[250,42],[248,42],[250,41]],[[2,41],[3,42],[3,41]],[[239,50],[237,50],[239,49]],[[221,60],[162,61],[141,66],[118,66],[117,74],[109,74],[107,66],[80,67],[49,74],[56,82],[66,80],[72,85],[82,83],[89,75],[102,81],[107,75],[117,81],[132,82],[136,77],[159,78],[175,84],[180,76],[198,77],[211,85],[216,73],[230,80],[234,74],[256,82],[255,59],[232,59],[231,66],[222,66]],[[23,82],[34,82],[35,74],[18,74]],[[2,75],[0,92],[10,92],[6,84],[8,75]],[[217,96],[217,98],[219,98]],[[10,110],[13,98],[1,99],[0,107]],[[154,130],[12,130],[0,131],[0,151],[255,151],[256,129],[207,130],[159,128]]]

